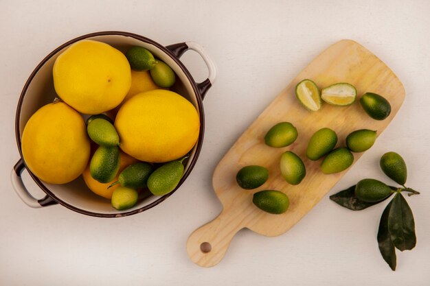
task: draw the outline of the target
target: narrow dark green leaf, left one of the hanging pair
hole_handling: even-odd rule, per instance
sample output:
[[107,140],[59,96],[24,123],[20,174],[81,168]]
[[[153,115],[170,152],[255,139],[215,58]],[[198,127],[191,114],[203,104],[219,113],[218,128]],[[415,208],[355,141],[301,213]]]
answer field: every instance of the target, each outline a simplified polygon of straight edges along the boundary
[[379,222],[378,229],[378,246],[379,251],[382,254],[385,262],[388,263],[389,267],[395,271],[396,270],[396,248],[394,247],[394,243],[391,240],[391,234],[388,229],[388,217],[390,209],[392,208],[392,203],[389,202],[385,207],[385,210],[382,213],[381,221]]

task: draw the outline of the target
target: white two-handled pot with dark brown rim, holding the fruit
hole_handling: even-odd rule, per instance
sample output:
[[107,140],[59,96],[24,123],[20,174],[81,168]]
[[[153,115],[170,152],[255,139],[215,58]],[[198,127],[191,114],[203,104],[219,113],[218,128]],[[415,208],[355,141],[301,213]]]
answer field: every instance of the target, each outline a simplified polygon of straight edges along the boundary
[[[190,152],[190,157],[185,163],[183,178],[174,191],[176,191],[188,177],[199,156],[205,128],[202,100],[216,78],[216,67],[214,62],[203,50],[203,47],[194,42],[184,42],[163,47],[159,43],[137,34],[131,34],[128,32],[97,32],[74,38],[52,51],[52,53],[49,53],[49,55],[46,56],[40,64],[38,64],[36,69],[34,69],[30,75],[30,78],[28,78],[25,83],[16,108],[15,119],[16,143],[18,145],[21,158],[12,169],[11,174],[12,185],[21,200],[23,200],[23,202],[28,206],[32,206],[34,208],[40,208],[42,206],[52,204],[61,204],[78,213],[95,217],[123,217],[126,215],[141,213],[142,211],[146,211],[148,208],[152,208],[153,206],[163,202],[163,200],[170,197],[174,191],[167,195],[163,195],[162,197],[150,196],[148,198],[148,195],[146,195],[146,198],[139,198],[139,201],[133,208],[126,211],[117,211],[111,206],[109,200],[99,197],[98,195],[95,195],[95,193],[91,192],[84,183],[82,176],[68,184],[47,184],[39,180],[29,169],[27,169],[27,167],[25,167],[21,151],[21,136],[25,123],[27,123],[27,120],[30,119],[38,108],[52,102],[54,97],[56,97],[52,78],[52,67],[54,66],[54,61],[57,56],[69,47],[69,45],[83,39],[98,40],[112,45],[121,51],[126,51],[126,49],[133,45],[145,47],[151,51],[156,58],[166,62],[166,64],[174,70],[177,75],[177,82],[172,87],[172,90],[186,97],[199,111],[201,123],[199,140]],[[183,53],[188,50],[194,50],[199,53],[207,65],[209,75],[203,82],[196,83],[188,69],[186,69],[181,60],[179,60]],[[24,169],[29,172],[38,187],[46,193],[44,198],[34,198],[33,195],[27,191],[21,178],[21,173]]]

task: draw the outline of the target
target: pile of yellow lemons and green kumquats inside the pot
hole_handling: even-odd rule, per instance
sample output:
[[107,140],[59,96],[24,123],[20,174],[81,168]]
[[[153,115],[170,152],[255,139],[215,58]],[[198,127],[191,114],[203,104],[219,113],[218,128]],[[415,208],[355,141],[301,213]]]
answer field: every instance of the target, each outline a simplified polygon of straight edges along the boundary
[[[59,99],[32,115],[21,140],[33,174],[51,184],[82,174],[91,191],[115,197],[117,209],[135,204],[130,201],[137,200],[152,173],[155,195],[176,187],[182,160],[199,138],[200,120],[185,97],[169,90],[176,76],[168,64],[144,47],[124,54],[106,43],[80,40],[56,58],[53,77]],[[87,115],[92,116],[86,123]],[[140,163],[150,166],[145,176],[139,174]],[[164,164],[158,170],[154,163]],[[131,184],[139,188],[127,187],[137,179],[145,180]]]

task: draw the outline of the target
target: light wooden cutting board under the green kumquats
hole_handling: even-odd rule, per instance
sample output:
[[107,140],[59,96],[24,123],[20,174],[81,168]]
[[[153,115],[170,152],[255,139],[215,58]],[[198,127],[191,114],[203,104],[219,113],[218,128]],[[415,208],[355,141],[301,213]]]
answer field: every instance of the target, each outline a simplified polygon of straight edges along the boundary
[[[323,104],[319,111],[310,112],[300,106],[295,97],[296,84],[305,78],[313,80],[320,88],[349,82],[356,86],[358,97],[365,92],[378,93],[390,102],[392,112],[387,119],[376,121],[364,112],[358,99],[351,106]],[[340,146],[345,145],[346,136],[357,129],[377,130],[379,135],[392,121],[404,99],[405,88],[400,80],[363,46],[352,40],[341,40],[328,47],[286,86],[218,163],[212,184],[223,204],[223,211],[190,235],[187,241],[190,259],[204,267],[216,265],[223,259],[231,239],[242,228],[268,237],[285,233],[348,171],[324,175],[319,170],[321,159],[312,161],[306,157],[310,136],[320,128],[332,128],[337,132],[337,146]],[[281,121],[293,123],[299,133],[297,140],[283,148],[265,145],[267,130]],[[378,144],[378,139],[375,144]],[[306,177],[296,186],[288,184],[280,174],[280,155],[287,150],[295,152],[306,165]],[[367,152],[372,152],[372,149]],[[354,162],[361,154],[354,153]],[[236,183],[236,174],[246,165],[267,167],[269,180],[258,189],[241,189]],[[252,203],[253,193],[264,189],[286,193],[290,199],[288,211],[273,215],[257,208]]]

